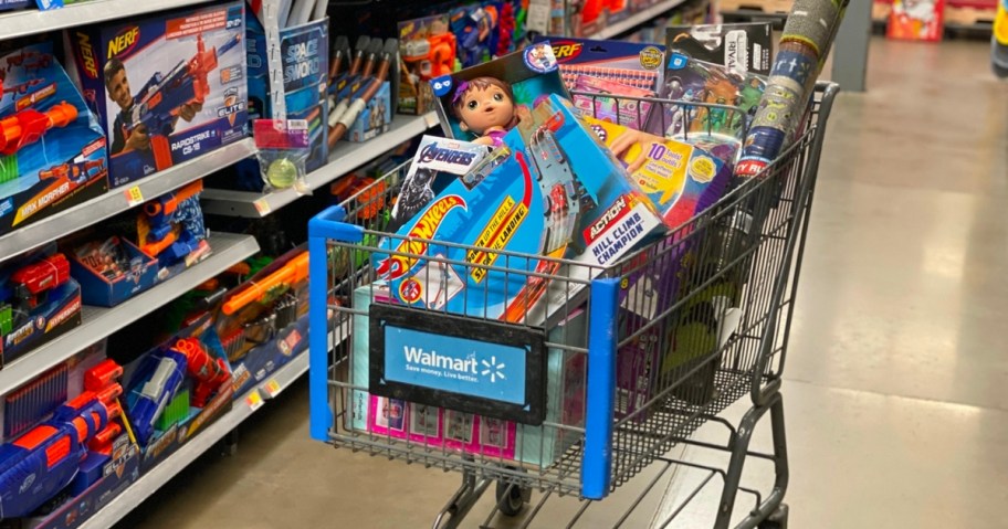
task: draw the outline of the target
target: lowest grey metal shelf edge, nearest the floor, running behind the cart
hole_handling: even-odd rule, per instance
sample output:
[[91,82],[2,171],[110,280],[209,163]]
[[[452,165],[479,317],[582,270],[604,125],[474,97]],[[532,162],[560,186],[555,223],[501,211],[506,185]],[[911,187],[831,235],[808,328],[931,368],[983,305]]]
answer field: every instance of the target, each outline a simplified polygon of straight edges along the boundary
[[104,529],[112,527],[135,509],[141,501],[156,493],[178,473],[189,466],[197,457],[210,449],[218,441],[234,430],[256,410],[290,387],[308,370],[308,352],[305,351],[291,360],[290,363],[276,370],[273,377],[264,380],[260,385],[249,390],[248,393],[235,399],[234,406],[228,413],[218,417],[199,435],[193,436],[178,452],[171,454],[160,464],[140,476],[133,485],[123,490],[102,510],[87,519],[81,529]]

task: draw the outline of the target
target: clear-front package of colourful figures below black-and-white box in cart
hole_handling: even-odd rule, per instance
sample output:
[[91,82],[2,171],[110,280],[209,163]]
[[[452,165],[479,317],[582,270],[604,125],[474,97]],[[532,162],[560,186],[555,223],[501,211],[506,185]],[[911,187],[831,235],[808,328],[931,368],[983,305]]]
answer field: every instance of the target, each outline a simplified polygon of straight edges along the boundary
[[753,73],[742,75],[679,53],[670,53],[666,62],[662,98],[728,105],[738,110],[668,105],[651,114],[649,130],[687,141],[689,133],[722,135],[741,141],[746,121],[766,91],[766,77]]

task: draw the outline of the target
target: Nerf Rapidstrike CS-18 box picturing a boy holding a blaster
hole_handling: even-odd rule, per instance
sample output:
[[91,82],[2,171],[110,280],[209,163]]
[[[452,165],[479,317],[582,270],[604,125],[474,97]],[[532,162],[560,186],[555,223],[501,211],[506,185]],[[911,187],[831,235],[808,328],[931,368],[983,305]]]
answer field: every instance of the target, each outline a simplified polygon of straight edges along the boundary
[[244,2],[73,30],[85,98],[111,140],[112,187],[245,136]]

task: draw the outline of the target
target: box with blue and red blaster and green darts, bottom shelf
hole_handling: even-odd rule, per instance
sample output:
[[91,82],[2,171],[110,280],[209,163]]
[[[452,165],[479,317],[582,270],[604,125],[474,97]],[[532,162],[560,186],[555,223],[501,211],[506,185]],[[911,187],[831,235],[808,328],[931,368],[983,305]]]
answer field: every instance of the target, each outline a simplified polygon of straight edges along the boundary
[[140,446],[140,473],[231,409],[231,367],[210,315],[125,363],[123,405]]

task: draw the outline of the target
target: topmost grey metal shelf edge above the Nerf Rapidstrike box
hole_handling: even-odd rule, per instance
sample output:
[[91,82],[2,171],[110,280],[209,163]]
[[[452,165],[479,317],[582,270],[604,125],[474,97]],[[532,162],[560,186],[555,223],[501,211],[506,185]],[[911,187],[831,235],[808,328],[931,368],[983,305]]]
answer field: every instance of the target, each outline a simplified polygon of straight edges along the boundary
[[25,9],[0,14],[0,35],[2,39],[44,33],[85,25],[93,22],[107,22],[139,14],[165,11],[186,6],[208,3],[210,0],[92,0],[67,6],[52,11]]

